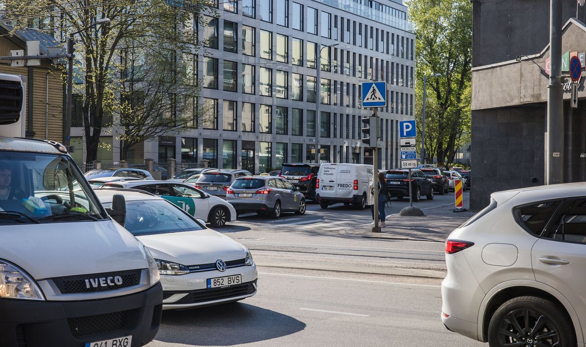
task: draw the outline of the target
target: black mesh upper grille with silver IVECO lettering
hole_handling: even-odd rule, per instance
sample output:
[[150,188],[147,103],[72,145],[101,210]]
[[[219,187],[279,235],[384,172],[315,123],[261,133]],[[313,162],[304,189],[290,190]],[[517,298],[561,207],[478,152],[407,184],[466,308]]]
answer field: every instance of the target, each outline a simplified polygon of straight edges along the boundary
[[[67,277],[56,277],[52,280],[55,285],[57,285],[57,288],[59,288],[59,291],[62,294],[96,292],[137,285],[141,281],[141,271],[142,270],[137,269],[115,271],[111,273],[74,275]],[[107,284],[107,279],[110,277],[110,283],[114,283],[114,285]],[[118,283],[115,283],[115,278],[117,277],[122,280],[122,283],[120,283],[120,279],[118,279]],[[102,285],[104,284],[104,280],[101,280],[103,278],[105,278],[106,285]]]

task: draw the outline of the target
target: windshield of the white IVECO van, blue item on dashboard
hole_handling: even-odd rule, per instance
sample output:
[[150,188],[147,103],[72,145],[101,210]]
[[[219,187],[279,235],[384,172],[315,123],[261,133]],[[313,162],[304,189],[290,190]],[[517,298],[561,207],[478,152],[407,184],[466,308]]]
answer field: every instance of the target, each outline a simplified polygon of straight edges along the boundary
[[0,151],[0,224],[105,217],[86,179],[68,156]]

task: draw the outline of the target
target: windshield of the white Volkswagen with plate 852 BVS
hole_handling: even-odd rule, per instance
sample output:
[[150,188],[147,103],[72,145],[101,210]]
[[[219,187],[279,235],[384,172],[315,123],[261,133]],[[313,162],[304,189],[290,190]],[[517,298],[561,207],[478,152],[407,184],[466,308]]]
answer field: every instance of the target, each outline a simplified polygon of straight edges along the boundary
[[[112,207],[112,203],[104,203]],[[126,201],[124,229],[135,236],[202,230],[195,220],[163,199]]]

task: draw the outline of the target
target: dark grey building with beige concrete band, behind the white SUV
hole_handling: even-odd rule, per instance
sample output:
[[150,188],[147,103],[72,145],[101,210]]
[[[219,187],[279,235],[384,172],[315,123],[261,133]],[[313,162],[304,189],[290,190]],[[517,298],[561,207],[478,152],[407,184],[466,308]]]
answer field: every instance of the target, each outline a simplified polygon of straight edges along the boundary
[[[487,206],[492,192],[545,184],[549,5],[473,1],[472,210]],[[584,8],[564,0],[563,18],[562,52],[582,57],[584,69]],[[564,114],[558,115],[565,129],[564,182],[580,182],[586,180],[585,78],[578,82],[578,108],[571,108],[566,67]]]

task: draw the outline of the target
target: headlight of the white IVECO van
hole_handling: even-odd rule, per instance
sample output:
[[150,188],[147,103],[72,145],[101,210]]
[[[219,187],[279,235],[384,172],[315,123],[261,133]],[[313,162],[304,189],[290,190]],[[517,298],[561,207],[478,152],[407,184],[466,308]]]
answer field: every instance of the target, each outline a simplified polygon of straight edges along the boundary
[[0,261],[0,298],[45,300],[38,285],[18,266]]

